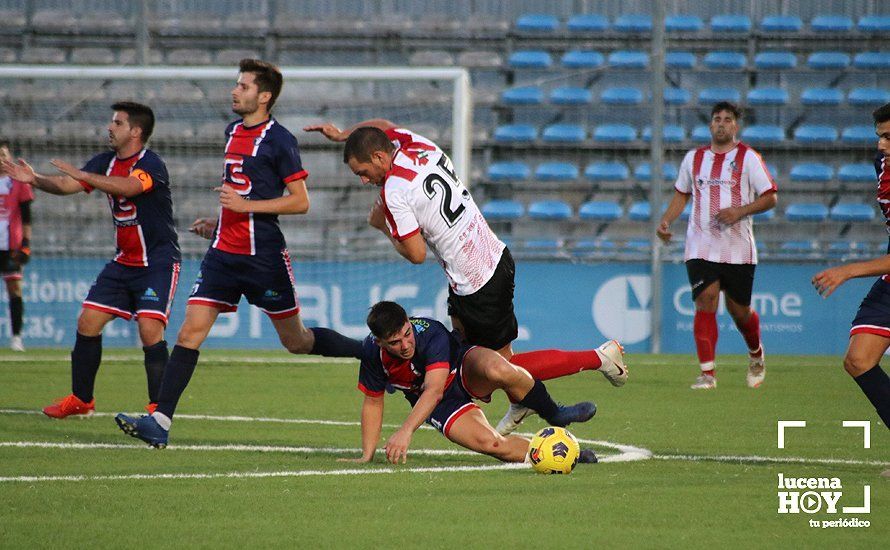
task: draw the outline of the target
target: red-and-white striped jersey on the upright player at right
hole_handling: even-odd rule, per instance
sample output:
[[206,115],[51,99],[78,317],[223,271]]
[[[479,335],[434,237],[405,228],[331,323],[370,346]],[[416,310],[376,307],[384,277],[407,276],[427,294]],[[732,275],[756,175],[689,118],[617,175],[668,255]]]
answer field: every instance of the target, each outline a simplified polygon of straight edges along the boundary
[[685,259],[757,263],[751,216],[732,225],[717,221],[720,210],[744,206],[765,193],[777,191],[757,151],[744,143],[726,153],[714,153],[710,146],[693,149],[683,158],[674,188],[692,195]]

